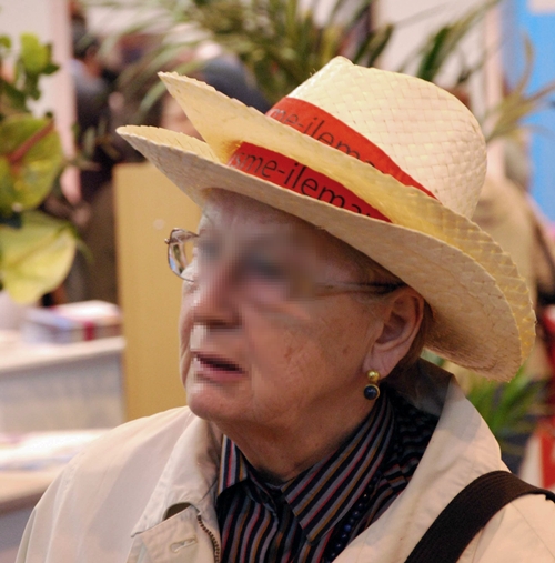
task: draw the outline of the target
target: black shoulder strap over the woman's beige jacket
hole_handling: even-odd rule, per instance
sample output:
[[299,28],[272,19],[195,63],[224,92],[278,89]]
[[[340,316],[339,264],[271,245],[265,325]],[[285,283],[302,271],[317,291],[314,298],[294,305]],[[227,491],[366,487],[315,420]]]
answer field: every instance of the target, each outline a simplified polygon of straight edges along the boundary
[[509,502],[525,494],[544,494],[506,471],[493,471],[463,489],[443,510],[405,563],[455,563],[473,537]]

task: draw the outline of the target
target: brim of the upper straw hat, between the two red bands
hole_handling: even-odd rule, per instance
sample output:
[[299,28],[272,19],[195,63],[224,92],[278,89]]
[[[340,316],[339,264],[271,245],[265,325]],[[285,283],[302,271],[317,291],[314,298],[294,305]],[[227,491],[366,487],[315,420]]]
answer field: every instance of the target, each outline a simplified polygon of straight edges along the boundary
[[[527,358],[535,340],[535,319],[526,283],[508,254],[480,227],[416,188],[230,99],[204,82],[176,73],[161,73],[161,79],[212,149],[215,161],[226,163],[242,142],[264,147],[347,187],[392,223],[436,238],[476,260],[506,295],[519,332],[519,343],[514,345],[521,349],[523,361]],[[465,150],[483,152],[484,147],[476,144]]]

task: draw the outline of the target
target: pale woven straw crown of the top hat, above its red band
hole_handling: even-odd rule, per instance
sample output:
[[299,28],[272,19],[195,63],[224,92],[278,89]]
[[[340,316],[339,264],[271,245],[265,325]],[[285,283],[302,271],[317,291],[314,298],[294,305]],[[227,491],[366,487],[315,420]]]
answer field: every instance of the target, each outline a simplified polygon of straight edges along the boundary
[[337,57],[289,98],[317,105],[364,135],[445,207],[474,213],[486,172],[485,140],[474,115],[445,90]]

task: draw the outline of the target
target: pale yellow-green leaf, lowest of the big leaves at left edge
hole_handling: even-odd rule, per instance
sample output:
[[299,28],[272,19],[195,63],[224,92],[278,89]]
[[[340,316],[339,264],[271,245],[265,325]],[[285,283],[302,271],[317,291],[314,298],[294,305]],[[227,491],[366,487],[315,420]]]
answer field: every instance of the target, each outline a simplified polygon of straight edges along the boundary
[[0,284],[18,303],[32,303],[65,278],[75,252],[73,228],[40,211],[22,215],[22,228],[0,224]]

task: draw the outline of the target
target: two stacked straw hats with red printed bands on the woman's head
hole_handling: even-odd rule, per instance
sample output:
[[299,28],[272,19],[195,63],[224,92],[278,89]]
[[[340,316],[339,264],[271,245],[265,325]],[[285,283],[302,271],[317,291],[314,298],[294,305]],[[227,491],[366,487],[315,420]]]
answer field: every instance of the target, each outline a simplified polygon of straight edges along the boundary
[[535,336],[525,282],[470,218],[485,177],[471,112],[436,86],[335,58],[266,115],[196,80],[162,73],[205,142],[120,128],[203,204],[211,188],[304,219],[364,252],[433,310],[426,348],[511,379]]

